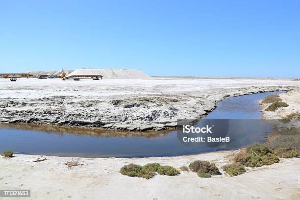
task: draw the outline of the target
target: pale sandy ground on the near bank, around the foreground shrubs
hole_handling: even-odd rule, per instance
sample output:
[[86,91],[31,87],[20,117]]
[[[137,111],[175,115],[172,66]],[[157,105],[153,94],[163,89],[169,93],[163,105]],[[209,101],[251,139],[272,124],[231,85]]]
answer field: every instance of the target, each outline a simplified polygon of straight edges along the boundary
[[[295,106],[293,103],[299,100],[297,91],[280,95],[291,105],[286,110],[299,111],[297,103]],[[17,93],[21,94],[22,90]],[[120,168],[129,163],[144,165],[158,162],[179,168],[197,159],[213,161],[220,168],[230,162],[230,157],[238,151],[155,158],[78,158],[83,165],[71,169],[64,165],[70,159],[67,157],[16,154],[10,159],[0,157],[0,188],[31,189],[31,198],[27,199],[32,200],[300,199],[300,158],[280,159],[279,163],[270,166],[248,168],[245,174],[235,177],[225,175],[222,170],[222,175],[212,178],[200,178],[193,172],[181,172],[177,176],[156,175],[150,180],[119,173]],[[37,158],[49,160],[33,162]]]

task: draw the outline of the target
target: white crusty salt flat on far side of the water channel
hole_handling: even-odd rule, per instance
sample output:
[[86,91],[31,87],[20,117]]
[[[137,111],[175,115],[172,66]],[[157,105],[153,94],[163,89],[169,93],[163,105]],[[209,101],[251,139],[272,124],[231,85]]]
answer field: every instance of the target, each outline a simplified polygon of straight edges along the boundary
[[0,80],[0,122],[161,130],[200,118],[228,97],[299,87],[290,79]]

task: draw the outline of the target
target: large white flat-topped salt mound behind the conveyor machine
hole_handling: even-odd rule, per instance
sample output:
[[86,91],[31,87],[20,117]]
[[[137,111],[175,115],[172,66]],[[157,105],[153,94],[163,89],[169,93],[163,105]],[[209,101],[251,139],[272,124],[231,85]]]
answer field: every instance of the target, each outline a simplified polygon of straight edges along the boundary
[[102,75],[104,79],[124,79],[124,78],[150,78],[140,70],[126,70],[126,69],[78,69],[66,75]]

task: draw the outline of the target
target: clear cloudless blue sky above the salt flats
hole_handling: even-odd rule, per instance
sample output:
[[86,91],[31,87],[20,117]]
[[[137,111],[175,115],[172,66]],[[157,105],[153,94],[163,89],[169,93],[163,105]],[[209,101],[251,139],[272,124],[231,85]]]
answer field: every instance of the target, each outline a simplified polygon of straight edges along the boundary
[[300,77],[300,0],[0,0],[0,72]]

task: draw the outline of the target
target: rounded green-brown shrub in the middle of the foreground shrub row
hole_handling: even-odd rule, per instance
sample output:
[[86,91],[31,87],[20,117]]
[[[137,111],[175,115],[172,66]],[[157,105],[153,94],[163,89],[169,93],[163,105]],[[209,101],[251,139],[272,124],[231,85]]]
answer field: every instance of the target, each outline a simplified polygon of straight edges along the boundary
[[195,160],[194,162],[191,162],[189,168],[193,172],[208,173],[210,175],[220,174],[219,169],[214,163],[203,160]]

